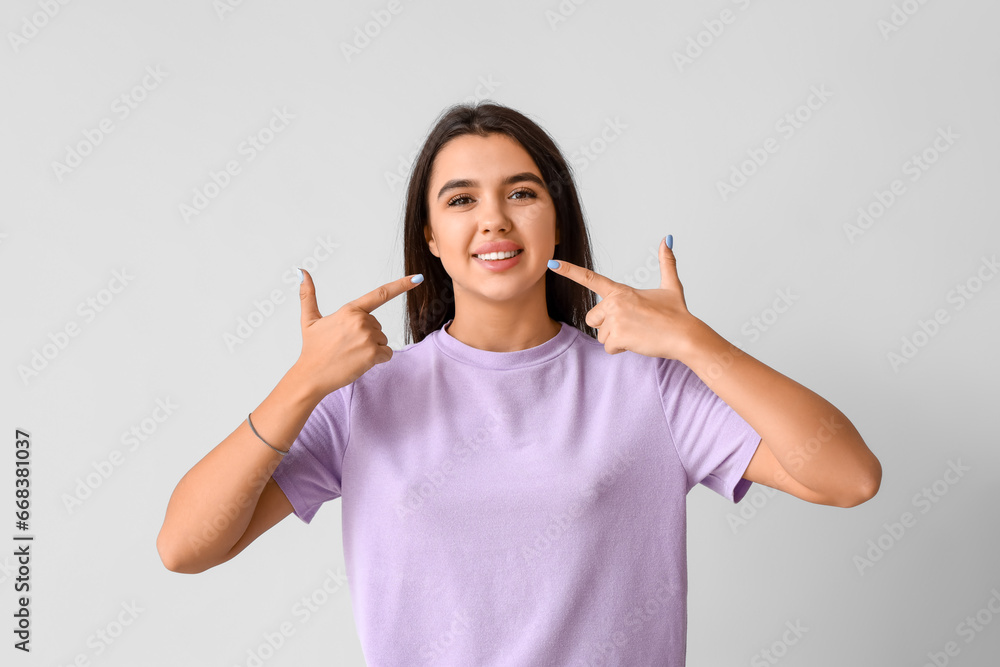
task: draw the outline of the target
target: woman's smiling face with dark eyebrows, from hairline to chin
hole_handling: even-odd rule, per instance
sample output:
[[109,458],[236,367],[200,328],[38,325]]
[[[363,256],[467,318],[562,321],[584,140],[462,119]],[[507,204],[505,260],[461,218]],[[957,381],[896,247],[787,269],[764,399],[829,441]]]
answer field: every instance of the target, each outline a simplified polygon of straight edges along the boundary
[[[504,134],[446,143],[431,168],[424,237],[457,292],[508,300],[537,287],[559,242],[552,198],[528,152]],[[483,244],[520,249],[512,261],[475,256]]]

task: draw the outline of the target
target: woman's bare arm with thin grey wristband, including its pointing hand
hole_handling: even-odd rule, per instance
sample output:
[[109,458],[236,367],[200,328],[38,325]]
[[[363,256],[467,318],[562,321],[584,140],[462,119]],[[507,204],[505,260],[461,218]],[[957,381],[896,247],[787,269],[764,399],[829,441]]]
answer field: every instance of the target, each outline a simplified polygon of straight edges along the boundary
[[[288,451],[323,397],[392,358],[389,339],[372,315],[420,280],[394,280],[326,317],[308,271],[299,285],[302,354],[252,412],[254,428]],[[422,278],[422,276],[420,276]],[[156,550],[168,570],[195,574],[224,563],[292,512],[271,478],[281,462],[244,419],[187,472],[167,503]]]

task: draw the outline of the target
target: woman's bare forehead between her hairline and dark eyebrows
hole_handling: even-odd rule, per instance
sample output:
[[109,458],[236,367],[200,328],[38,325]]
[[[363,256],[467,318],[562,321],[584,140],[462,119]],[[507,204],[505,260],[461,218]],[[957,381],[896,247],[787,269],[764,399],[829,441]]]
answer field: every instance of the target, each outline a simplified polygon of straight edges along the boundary
[[521,171],[539,173],[535,161],[516,140],[505,134],[463,134],[438,151],[430,181],[433,185],[450,178],[498,180]]

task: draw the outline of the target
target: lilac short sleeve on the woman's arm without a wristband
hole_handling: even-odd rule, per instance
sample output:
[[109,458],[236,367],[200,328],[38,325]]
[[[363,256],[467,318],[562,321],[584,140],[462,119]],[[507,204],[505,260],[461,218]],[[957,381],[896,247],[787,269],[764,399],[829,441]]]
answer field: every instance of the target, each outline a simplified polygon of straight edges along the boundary
[[663,414],[687,475],[687,491],[703,484],[734,503],[751,483],[743,479],[760,435],[677,359],[656,359]]

